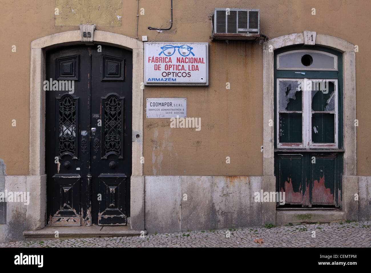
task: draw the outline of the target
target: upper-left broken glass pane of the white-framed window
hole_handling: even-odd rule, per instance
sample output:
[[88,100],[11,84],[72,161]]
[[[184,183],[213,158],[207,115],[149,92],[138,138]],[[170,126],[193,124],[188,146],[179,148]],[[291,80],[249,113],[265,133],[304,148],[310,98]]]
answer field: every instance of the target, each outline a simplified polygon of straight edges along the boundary
[[279,111],[302,111],[302,91],[298,87],[298,81],[279,82]]

